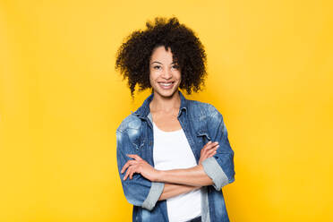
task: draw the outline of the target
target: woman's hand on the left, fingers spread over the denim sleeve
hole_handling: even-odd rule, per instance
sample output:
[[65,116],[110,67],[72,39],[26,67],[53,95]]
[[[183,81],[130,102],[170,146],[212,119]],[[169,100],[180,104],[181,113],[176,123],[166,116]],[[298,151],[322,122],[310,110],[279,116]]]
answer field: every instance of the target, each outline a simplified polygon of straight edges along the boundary
[[127,156],[134,159],[128,160],[121,170],[121,173],[123,174],[127,169],[126,174],[124,175],[124,180],[126,180],[127,177],[132,179],[133,174],[137,173],[149,179],[151,182],[157,181],[159,172],[157,169],[155,169],[153,166],[150,166],[149,163],[147,163],[138,155],[127,154]]

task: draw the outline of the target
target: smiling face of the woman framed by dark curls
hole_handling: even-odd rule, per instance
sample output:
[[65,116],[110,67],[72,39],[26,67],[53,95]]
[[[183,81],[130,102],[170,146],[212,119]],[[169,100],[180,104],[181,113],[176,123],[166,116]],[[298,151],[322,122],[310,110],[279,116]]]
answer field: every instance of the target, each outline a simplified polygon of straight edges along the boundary
[[178,91],[181,82],[179,65],[173,61],[170,47],[156,47],[149,61],[149,80],[152,89],[158,96],[172,97]]

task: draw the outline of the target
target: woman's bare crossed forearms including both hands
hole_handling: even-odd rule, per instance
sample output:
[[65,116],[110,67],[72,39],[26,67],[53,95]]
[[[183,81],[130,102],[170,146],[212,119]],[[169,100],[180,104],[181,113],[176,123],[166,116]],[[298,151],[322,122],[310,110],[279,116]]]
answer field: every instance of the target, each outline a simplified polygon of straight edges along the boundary
[[124,180],[128,178],[132,179],[132,175],[134,174],[141,174],[151,182],[165,183],[163,192],[158,201],[166,200],[182,193],[200,189],[201,186],[213,184],[213,181],[204,172],[201,163],[206,158],[213,157],[218,147],[218,142],[209,141],[201,149],[199,164],[186,169],[157,170],[138,155],[128,154],[127,156],[133,159],[125,163],[121,173],[124,174],[124,172],[126,172],[124,174]]

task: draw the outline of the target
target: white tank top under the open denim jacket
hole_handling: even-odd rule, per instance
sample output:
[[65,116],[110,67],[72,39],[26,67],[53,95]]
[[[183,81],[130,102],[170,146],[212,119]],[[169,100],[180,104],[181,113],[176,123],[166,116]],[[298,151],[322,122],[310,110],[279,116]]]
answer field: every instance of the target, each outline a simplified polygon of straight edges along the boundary
[[[153,159],[158,170],[190,168],[197,166],[183,129],[165,132],[153,123]],[[201,189],[166,200],[170,222],[184,222],[201,215]]]

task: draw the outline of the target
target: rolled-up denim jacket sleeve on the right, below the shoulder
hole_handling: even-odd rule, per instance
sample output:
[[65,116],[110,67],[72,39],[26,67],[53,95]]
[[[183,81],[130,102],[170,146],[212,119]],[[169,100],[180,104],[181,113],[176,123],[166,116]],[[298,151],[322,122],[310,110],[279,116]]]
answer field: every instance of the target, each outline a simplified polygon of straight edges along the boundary
[[235,181],[234,150],[227,138],[223,116],[213,106],[209,113],[209,135],[211,141],[218,141],[219,148],[213,157],[206,158],[201,164],[213,181],[214,188],[220,191],[223,186]]

